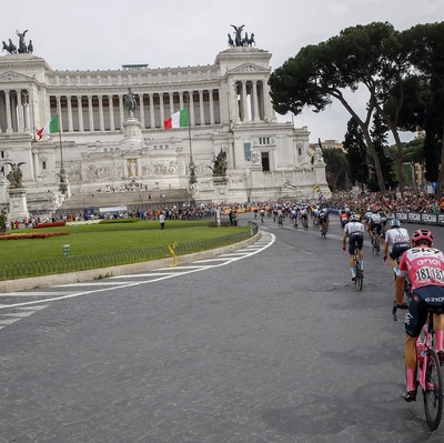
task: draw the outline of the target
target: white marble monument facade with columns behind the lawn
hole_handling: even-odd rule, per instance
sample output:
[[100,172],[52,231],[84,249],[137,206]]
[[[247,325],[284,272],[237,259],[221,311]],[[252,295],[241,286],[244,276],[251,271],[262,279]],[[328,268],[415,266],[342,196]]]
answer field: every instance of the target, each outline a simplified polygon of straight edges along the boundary
[[[0,203],[8,204],[10,163],[19,162],[31,212],[129,187],[189,189],[195,201],[213,203],[313,198],[315,185],[329,197],[307,128],[276,120],[270,59],[266,50],[231,47],[204,67],[58,71],[32,53],[1,57]],[[131,114],[123,103],[129,88],[137,101]],[[190,125],[164,130],[183,108]],[[56,114],[60,133],[37,140]],[[226,177],[216,178],[221,152]],[[69,183],[62,192],[61,168]]]

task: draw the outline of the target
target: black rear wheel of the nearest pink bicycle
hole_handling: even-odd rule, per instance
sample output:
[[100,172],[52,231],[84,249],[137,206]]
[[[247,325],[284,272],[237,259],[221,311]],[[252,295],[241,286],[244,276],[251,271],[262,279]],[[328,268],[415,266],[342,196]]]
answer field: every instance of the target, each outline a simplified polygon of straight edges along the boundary
[[433,350],[427,350],[427,366],[425,371],[425,417],[431,431],[435,431],[440,426],[443,413],[443,381],[441,377],[440,360]]

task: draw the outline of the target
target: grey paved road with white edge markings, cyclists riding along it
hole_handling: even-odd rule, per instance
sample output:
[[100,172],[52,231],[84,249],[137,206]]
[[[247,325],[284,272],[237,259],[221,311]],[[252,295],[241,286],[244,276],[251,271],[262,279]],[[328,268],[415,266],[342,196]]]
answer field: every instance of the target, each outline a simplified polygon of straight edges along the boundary
[[382,254],[360,292],[339,222],[261,230],[214,260],[1,294],[0,442],[442,442],[401,397]]

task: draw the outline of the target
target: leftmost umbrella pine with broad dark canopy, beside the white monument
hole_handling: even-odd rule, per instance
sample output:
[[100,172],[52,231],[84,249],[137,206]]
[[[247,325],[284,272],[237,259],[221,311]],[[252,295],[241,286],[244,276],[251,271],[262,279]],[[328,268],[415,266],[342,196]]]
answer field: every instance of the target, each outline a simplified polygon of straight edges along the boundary
[[[370,135],[370,124],[375,110],[382,107],[381,98],[384,95],[377,94],[385,84],[384,75],[391,72],[387,59],[393,54],[391,48],[396,38],[390,23],[347,28],[326,42],[302,48],[269,80],[273,105],[279,113],[292,111],[299,114],[305,105],[320,112],[332,99],[341,102],[362,130],[382,192],[385,191],[384,178]],[[344,95],[346,90],[355,92],[360,85],[369,92],[363,118]]]

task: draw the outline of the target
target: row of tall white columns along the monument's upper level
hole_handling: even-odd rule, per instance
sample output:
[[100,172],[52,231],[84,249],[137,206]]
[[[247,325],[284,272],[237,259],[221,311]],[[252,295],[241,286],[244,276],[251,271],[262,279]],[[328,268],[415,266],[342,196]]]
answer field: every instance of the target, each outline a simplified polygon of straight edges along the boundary
[[[184,107],[190,111],[190,125],[221,124],[224,122],[223,100],[219,85],[186,90],[148,91],[152,87],[132,85],[137,97],[135,117],[142,129],[162,129],[163,121]],[[63,91],[62,87],[48,87],[44,94],[44,115],[38,118],[37,101],[41,97],[36,88],[0,90],[0,133],[30,132],[46,124],[56,113],[60,115],[62,132],[105,132],[123,129],[127,89],[93,87],[83,92]],[[112,89],[112,90],[111,90]],[[264,80],[232,80],[229,89],[228,119],[262,121],[271,118],[268,101],[269,85]]]

